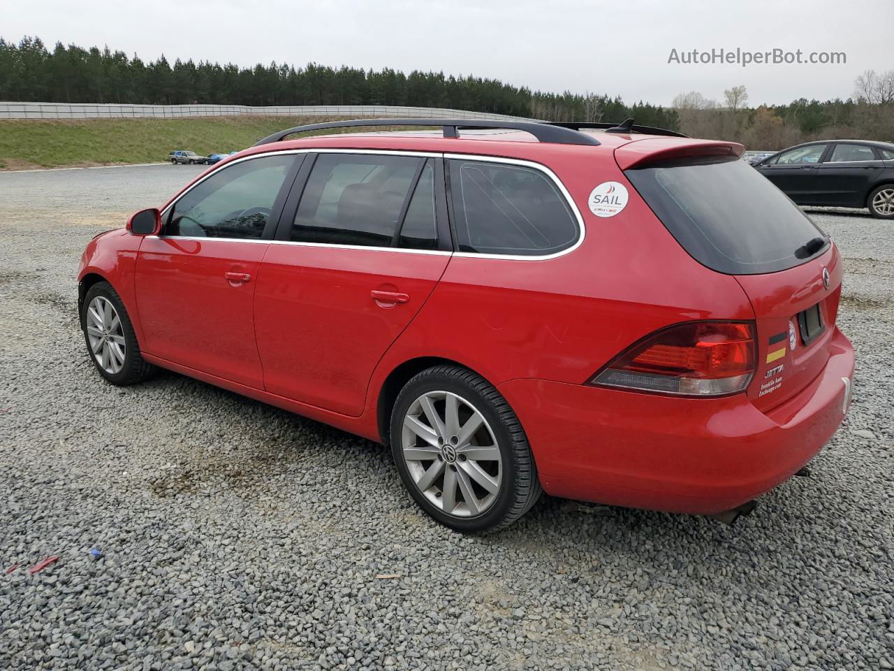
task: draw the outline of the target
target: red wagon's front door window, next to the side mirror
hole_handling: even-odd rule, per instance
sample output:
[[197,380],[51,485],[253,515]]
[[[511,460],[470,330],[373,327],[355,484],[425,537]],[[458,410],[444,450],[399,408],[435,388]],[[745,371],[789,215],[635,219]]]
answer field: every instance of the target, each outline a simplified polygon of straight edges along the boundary
[[249,158],[218,170],[174,203],[164,235],[260,238],[294,160]]

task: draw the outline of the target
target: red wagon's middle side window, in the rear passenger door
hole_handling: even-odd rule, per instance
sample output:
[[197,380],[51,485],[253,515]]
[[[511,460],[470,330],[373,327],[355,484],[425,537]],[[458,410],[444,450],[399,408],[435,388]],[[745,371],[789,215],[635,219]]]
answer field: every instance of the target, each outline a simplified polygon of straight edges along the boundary
[[[363,247],[436,247],[432,172],[431,162],[423,157],[320,154],[301,195],[290,239]],[[398,226],[404,213],[401,234]]]

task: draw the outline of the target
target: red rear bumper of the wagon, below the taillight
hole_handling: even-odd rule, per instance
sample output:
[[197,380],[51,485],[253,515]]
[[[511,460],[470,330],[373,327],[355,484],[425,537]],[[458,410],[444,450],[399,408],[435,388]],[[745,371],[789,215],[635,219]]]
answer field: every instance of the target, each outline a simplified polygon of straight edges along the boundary
[[788,480],[838,429],[854,350],[837,328],[830,352],[822,373],[770,412],[744,394],[681,399],[530,378],[499,388],[547,493],[719,513]]

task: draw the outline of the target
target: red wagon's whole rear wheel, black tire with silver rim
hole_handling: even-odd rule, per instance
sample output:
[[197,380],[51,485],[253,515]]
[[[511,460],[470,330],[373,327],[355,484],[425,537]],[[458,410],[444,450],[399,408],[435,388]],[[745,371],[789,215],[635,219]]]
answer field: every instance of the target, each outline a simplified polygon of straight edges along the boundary
[[[448,403],[457,408],[452,421]],[[390,437],[410,497],[451,529],[500,531],[543,493],[519,418],[471,370],[441,365],[411,378],[394,402]]]

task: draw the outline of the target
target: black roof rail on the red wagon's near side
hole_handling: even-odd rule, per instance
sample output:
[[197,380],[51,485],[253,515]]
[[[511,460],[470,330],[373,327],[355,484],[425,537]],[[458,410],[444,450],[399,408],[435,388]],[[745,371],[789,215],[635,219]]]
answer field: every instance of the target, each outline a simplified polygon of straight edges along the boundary
[[[541,142],[556,144],[600,144],[592,135],[578,132],[574,124],[541,123],[536,121],[499,121],[488,119],[352,119],[350,121],[333,121],[329,123],[310,123],[306,126],[295,126],[284,131],[274,132],[264,140],[257,140],[255,147],[270,142],[279,142],[296,132],[323,131],[328,128],[352,128],[355,126],[435,126],[443,128],[445,138],[460,137],[462,128],[506,128],[514,131],[529,132]],[[608,124],[611,125],[611,124]],[[582,124],[582,127],[586,124]]]

